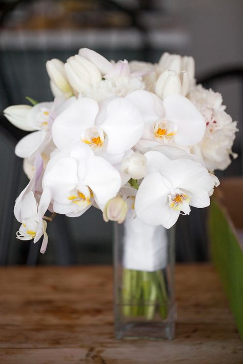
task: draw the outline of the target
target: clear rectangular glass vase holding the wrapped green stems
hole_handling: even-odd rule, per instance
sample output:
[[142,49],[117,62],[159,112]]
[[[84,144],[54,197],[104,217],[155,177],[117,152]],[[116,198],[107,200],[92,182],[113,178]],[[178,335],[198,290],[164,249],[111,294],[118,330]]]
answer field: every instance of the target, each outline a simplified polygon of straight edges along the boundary
[[116,338],[174,337],[174,232],[138,218],[114,223]]

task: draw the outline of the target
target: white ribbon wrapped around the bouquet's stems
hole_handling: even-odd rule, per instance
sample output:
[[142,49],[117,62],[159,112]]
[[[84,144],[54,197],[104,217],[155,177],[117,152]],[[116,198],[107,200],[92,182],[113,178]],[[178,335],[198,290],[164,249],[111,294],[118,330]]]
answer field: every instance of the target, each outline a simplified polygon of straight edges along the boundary
[[167,265],[168,236],[163,226],[149,226],[138,218],[124,221],[123,266],[153,272]]

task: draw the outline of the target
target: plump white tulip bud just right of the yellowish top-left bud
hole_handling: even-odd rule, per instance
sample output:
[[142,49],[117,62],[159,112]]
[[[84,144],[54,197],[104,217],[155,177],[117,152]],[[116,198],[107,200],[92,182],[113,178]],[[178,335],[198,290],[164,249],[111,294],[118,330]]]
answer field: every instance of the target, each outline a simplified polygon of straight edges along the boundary
[[71,86],[77,92],[85,92],[102,79],[96,66],[89,60],[75,55],[68,58],[65,70]]

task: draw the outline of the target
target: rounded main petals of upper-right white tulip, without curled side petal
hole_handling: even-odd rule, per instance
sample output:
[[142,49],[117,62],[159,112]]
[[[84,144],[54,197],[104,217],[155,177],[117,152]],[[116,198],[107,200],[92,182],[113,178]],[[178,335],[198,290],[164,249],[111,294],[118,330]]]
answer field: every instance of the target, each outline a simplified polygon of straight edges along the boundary
[[155,85],[155,93],[161,99],[173,94],[181,94],[181,82],[175,71],[166,70],[160,74]]

